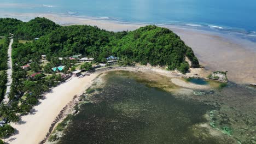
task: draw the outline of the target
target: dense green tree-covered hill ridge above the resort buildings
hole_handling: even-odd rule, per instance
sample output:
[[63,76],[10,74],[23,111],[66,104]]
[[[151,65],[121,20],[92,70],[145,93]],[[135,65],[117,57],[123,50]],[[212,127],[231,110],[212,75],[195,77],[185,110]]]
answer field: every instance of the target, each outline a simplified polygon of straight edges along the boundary
[[38,17],[29,22],[0,19],[2,27],[5,28],[0,29],[0,34],[14,33],[19,39],[31,40],[43,35],[33,43],[15,46],[16,63],[24,64],[33,55],[45,54],[49,58],[81,53],[94,57],[96,62],[104,62],[106,57],[113,55],[142,64],[167,65],[168,69],[177,68],[183,73],[189,67],[185,62],[187,56],[193,67],[199,67],[193,50],[167,28],[146,26],[136,31],[114,33],[96,26],[59,26]]

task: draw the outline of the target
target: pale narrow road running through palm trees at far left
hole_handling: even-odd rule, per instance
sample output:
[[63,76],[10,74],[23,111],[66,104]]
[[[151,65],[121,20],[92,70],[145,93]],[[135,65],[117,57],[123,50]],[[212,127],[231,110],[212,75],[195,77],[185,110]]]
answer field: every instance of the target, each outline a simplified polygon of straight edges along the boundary
[[7,89],[6,89],[6,93],[3,99],[3,103],[8,104],[9,102],[9,93],[10,93],[10,86],[11,86],[11,82],[13,82],[13,79],[11,78],[11,74],[13,74],[13,64],[11,61],[11,45],[13,45],[13,38],[10,38],[10,44],[8,47],[8,69],[7,69]]

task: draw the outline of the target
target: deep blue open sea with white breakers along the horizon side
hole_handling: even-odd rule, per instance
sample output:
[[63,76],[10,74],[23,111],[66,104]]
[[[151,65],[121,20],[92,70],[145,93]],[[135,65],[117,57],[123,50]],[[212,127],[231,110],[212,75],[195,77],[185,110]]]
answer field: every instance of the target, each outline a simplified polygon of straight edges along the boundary
[[1,0],[1,13],[59,13],[125,22],[208,27],[256,37],[255,0]]

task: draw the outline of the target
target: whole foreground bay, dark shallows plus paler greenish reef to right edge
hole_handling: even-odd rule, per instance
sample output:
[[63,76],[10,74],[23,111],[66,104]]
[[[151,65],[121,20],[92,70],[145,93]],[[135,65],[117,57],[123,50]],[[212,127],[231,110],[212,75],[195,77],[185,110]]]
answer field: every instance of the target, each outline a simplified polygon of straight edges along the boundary
[[90,103],[58,143],[253,143],[254,93],[234,83],[187,89],[162,75],[110,71],[84,95]]

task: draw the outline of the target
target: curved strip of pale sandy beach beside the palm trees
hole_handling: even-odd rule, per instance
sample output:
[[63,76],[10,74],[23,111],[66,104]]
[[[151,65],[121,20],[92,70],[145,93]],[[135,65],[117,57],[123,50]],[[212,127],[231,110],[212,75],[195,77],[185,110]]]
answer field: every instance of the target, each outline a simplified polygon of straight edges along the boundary
[[55,87],[51,93],[39,100],[39,105],[34,106],[32,114],[22,116],[20,124],[11,124],[17,131],[5,142],[35,144],[42,141],[63,107],[73,99],[74,95],[83,94],[96,76],[97,74],[92,74],[80,79],[73,77],[70,81]]

